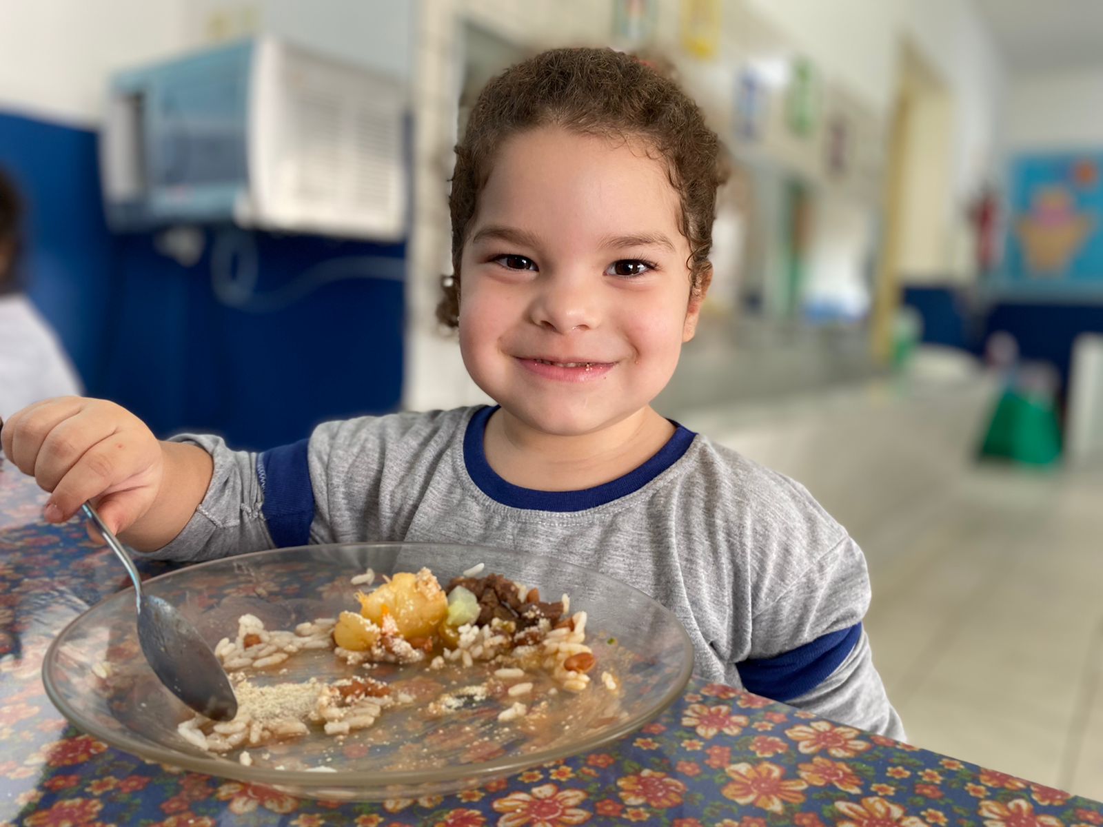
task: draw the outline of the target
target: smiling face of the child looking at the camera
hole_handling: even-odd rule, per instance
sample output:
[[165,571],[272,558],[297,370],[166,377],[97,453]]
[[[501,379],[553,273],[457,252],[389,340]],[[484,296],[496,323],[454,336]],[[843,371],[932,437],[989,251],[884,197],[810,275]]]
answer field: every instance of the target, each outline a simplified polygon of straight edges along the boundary
[[640,146],[550,127],[506,141],[461,259],[460,348],[479,387],[545,433],[644,409],[699,310],[678,211]]

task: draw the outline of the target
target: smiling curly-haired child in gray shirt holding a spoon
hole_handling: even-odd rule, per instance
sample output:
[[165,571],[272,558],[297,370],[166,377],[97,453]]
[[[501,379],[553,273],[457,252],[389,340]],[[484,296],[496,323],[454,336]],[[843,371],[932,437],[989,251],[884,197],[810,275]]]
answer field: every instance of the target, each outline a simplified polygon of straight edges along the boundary
[[672,82],[556,50],[488,84],[457,147],[442,321],[500,407],[326,422],[259,455],[158,442],[110,402],[4,426],[7,454],[157,558],[307,543],[508,547],[600,569],[682,620],[697,674],[902,738],[857,545],[808,493],[651,406],[708,288],[716,136]]

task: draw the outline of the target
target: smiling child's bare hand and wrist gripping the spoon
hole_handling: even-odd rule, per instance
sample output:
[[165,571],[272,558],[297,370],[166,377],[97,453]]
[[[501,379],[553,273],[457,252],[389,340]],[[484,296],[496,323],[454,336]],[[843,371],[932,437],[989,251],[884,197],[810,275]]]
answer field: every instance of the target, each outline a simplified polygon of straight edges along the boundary
[[87,501],[139,550],[160,548],[188,524],[211,482],[211,455],[159,441],[115,402],[60,397],[12,415],[0,430],[11,462],[52,492],[45,517],[63,523]]

